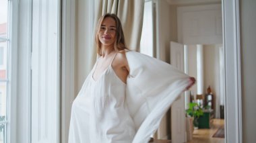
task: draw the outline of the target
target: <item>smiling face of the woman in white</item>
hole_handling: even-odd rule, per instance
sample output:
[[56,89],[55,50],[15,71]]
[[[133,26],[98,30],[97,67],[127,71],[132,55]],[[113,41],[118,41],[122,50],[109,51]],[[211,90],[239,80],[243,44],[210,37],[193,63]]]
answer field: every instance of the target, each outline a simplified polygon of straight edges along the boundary
[[116,39],[116,22],[111,17],[106,17],[100,26],[98,38],[102,46],[112,46]]

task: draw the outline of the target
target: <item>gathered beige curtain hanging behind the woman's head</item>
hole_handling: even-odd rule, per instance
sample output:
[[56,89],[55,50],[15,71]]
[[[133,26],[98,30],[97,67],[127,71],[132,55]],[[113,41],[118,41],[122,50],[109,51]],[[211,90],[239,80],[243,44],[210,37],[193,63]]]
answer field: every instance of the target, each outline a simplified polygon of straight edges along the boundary
[[94,28],[102,15],[115,13],[121,20],[127,46],[139,50],[144,0],[96,0],[95,4]]

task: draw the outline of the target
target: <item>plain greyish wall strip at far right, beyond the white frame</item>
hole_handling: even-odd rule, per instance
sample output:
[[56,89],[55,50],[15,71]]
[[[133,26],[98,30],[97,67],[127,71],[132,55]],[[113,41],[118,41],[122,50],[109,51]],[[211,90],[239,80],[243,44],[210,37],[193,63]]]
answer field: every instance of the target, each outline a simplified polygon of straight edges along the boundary
[[255,142],[256,136],[256,1],[241,3],[241,64],[243,142]]

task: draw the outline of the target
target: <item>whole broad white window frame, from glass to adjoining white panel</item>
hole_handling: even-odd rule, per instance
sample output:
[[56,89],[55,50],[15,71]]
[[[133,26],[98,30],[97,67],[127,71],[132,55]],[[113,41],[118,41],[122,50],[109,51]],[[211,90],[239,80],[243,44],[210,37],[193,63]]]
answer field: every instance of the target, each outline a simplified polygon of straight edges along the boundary
[[32,0],[9,0],[8,143],[31,142]]

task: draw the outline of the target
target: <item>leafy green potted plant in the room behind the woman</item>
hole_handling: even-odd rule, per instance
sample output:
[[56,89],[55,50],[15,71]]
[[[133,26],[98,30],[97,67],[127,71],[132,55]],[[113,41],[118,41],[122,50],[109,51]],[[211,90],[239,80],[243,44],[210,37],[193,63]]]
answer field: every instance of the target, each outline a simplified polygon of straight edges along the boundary
[[193,125],[198,128],[198,119],[203,115],[203,109],[198,103],[189,103],[189,109],[186,109],[187,115],[193,117]]

